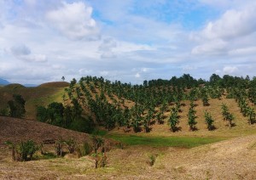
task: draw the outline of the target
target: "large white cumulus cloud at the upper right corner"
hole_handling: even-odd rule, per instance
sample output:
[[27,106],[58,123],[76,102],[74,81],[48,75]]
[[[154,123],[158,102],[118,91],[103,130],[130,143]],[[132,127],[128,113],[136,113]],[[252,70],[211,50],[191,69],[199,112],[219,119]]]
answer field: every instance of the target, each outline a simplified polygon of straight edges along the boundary
[[[256,3],[253,1],[223,1],[223,7],[230,2],[230,7],[224,10],[217,20],[207,22],[201,31],[190,34],[190,39],[195,42],[192,48],[193,55],[222,55],[235,56],[253,54],[256,40]],[[210,5],[216,1],[201,0]],[[240,2],[240,3],[239,3]],[[242,4],[239,6],[238,4]]]

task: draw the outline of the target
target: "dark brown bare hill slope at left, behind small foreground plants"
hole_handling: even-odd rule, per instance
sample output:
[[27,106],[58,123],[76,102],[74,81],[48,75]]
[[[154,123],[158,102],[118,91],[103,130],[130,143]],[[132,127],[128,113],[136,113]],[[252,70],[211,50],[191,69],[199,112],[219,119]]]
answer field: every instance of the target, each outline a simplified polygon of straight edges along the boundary
[[75,138],[78,142],[84,142],[89,139],[89,135],[38,121],[0,116],[0,145],[7,140],[17,142],[32,139],[39,143],[46,139],[58,138]]

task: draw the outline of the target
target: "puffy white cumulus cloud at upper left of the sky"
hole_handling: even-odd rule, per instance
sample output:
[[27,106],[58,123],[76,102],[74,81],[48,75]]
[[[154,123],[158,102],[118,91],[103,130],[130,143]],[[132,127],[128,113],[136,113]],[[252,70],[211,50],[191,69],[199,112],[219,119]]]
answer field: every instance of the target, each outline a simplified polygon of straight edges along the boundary
[[92,10],[82,2],[63,3],[61,8],[49,11],[46,19],[70,39],[94,40],[98,39],[99,30],[96,21],[91,18]]

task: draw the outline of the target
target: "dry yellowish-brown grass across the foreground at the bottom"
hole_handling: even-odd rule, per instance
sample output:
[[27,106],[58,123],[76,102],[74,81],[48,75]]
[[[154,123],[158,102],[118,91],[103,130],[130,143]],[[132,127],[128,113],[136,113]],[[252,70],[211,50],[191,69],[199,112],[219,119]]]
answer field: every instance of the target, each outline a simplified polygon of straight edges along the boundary
[[[127,147],[108,152],[108,165],[94,169],[90,156],[11,162],[1,149],[1,179],[255,179],[256,135],[194,149]],[[4,155],[4,156],[3,156]],[[8,156],[7,156],[8,155]],[[149,155],[157,155],[148,166]]]

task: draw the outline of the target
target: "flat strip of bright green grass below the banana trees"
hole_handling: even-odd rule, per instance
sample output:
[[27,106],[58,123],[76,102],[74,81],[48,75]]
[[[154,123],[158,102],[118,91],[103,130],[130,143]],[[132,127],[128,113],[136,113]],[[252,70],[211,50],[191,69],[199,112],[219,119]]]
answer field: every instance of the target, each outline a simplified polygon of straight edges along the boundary
[[135,135],[107,135],[107,138],[125,143],[126,145],[146,145],[153,147],[194,148],[207,143],[215,143],[226,138],[198,138],[198,137],[143,137]]

